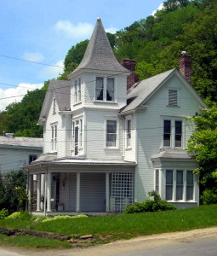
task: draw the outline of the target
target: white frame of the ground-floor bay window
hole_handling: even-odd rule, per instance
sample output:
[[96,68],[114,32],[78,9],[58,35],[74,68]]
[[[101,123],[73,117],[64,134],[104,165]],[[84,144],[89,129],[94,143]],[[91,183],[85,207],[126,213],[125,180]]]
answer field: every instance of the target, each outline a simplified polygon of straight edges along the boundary
[[[161,171],[161,169],[159,169]],[[173,192],[172,192],[172,199],[168,200],[167,196],[166,196],[166,187],[167,187],[167,181],[166,181],[166,172],[167,171],[172,171],[173,172],[173,184],[172,184],[172,188],[173,188]],[[182,184],[182,199],[177,199],[177,187],[180,187],[179,184],[177,184],[177,172],[182,171],[183,173],[183,184]],[[163,175],[161,176],[159,174],[159,177],[163,177],[163,180],[161,180],[161,178],[159,178],[160,183],[163,183],[163,199],[167,200],[167,201],[171,201],[171,202],[195,202],[197,199],[197,195],[196,195],[196,191],[197,191],[197,177],[196,175],[193,173],[193,170],[191,169],[186,169],[186,168],[166,168],[162,170]],[[187,172],[192,172],[193,173],[193,184],[191,184],[191,188],[192,188],[192,199],[187,199]],[[156,174],[155,174],[156,175]],[[155,177],[156,178],[156,177]],[[159,193],[161,194],[161,193]]]

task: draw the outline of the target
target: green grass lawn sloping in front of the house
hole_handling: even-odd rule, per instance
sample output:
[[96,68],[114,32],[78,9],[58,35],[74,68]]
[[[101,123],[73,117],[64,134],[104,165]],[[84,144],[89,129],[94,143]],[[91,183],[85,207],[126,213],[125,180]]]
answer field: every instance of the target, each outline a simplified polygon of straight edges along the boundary
[[[20,219],[0,220],[0,226],[54,232],[66,236],[94,235],[92,243],[128,239],[163,232],[194,230],[217,226],[217,205],[195,207],[168,212],[146,212],[117,216],[58,219],[34,223]],[[67,241],[54,241],[37,237],[0,236],[0,244],[27,247],[68,247]],[[23,242],[21,240],[24,240]]]

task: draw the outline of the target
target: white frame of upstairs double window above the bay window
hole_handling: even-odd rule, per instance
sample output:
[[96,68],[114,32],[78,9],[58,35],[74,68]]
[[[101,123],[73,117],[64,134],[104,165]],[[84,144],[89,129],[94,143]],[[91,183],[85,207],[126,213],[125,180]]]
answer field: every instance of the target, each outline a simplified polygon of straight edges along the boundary
[[[164,145],[164,121],[170,121],[170,143],[169,145]],[[181,122],[181,134],[175,133],[175,123],[176,122]],[[167,117],[163,117],[163,142],[162,142],[162,148],[185,148],[186,147],[186,132],[185,132],[185,119],[184,118],[167,118]],[[180,147],[176,146],[176,140],[175,137],[176,135],[181,135],[181,140],[180,140]]]

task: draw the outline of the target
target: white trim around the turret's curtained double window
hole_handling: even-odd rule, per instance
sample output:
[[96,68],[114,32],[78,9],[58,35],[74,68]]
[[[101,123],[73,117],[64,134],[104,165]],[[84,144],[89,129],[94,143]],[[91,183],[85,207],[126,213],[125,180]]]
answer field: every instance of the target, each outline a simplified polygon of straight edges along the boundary
[[[96,90],[97,90],[97,87],[96,87],[96,81],[97,79],[103,79],[103,99],[102,100],[98,100],[97,99],[97,95],[96,95]],[[113,94],[114,94],[114,99],[111,100],[111,101],[108,101],[107,100],[107,81],[108,79],[113,79],[114,80],[114,89],[113,89]],[[113,76],[110,76],[110,77],[107,77],[107,76],[101,76],[101,75],[97,75],[95,76],[95,83],[94,83],[94,102],[106,102],[106,103],[114,103],[114,102],[117,102],[117,98],[116,98],[116,92],[117,92],[117,86],[116,86],[116,78],[113,77]]]

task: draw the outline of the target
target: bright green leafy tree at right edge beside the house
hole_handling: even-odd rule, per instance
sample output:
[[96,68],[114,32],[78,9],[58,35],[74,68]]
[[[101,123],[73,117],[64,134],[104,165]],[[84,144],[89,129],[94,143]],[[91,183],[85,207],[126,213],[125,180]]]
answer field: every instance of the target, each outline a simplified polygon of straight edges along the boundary
[[194,155],[199,167],[194,171],[200,177],[202,189],[217,194],[217,104],[203,108],[201,115],[192,118],[197,125],[187,150]]

